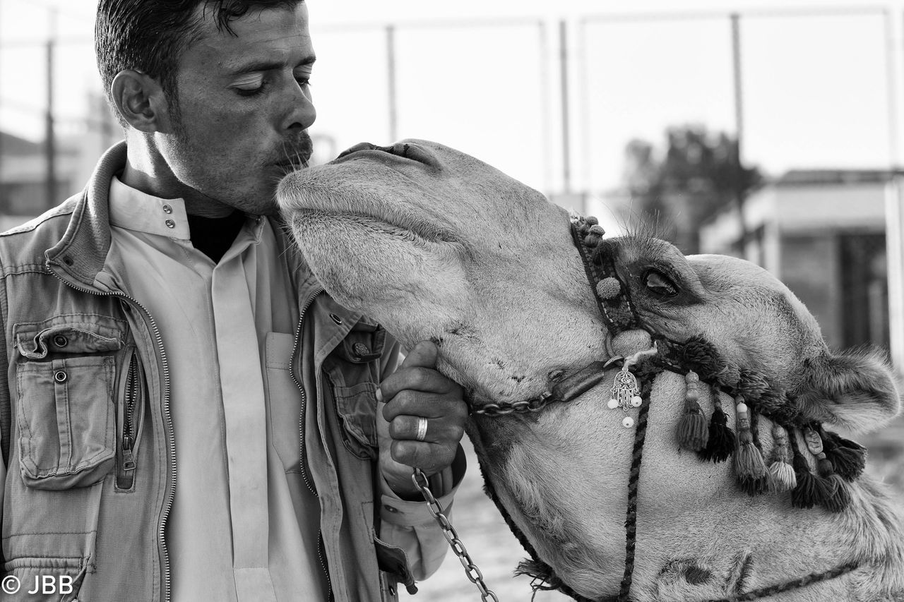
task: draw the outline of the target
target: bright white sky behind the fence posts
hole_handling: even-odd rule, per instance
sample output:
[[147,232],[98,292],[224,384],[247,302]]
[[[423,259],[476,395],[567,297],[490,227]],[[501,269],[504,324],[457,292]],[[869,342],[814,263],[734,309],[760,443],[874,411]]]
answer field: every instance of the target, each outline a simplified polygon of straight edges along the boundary
[[[325,141],[322,153],[389,142],[384,25],[392,23],[396,136],[436,139],[544,192],[562,190],[561,19],[569,27],[569,183],[612,188],[633,137],[659,144],[665,127],[683,123],[735,130],[726,14],[738,10],[749,163],[780,174],[897,158],[900,94],[889,81],[901,68],[887,48],[901,52],[900,2],[307,2],[318,54],[312,132]],[[89,90],[99,89],[92,0],[0,0],[0,128],[35,139],[51,6],[60,10],[53,81],[61,131],[84,127]],[[625,14],[636,18],[614,18]]]

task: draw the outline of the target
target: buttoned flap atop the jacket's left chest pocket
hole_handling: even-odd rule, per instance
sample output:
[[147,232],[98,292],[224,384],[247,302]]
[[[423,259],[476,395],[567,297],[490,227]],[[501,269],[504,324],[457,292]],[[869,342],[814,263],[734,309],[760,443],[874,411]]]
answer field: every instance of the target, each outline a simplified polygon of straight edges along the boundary
[[122,348],[126,324],[105,315],[58,315],[13,326],[15,346],[29,360],[48,353],[105,353]]

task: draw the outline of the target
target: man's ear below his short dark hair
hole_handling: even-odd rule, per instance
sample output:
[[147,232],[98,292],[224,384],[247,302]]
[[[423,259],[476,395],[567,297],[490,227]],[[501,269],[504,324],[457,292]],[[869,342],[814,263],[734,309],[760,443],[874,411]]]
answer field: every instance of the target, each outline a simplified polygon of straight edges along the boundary
[[141,132],[169,132],[169,103],[154,78],[133,69],[119,71],[110,84],[113,103],[129,126]]

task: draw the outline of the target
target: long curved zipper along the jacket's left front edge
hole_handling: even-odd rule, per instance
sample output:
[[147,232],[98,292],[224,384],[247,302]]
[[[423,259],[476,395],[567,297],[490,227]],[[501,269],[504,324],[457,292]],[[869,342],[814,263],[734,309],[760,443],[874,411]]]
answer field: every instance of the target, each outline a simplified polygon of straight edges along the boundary
[[[49,271],[54,277],[56,277],[60,282],[62,282],[67,287],[74,288],[82,293],[88,293],[89,295],[97,295],[97,296],[115,296],[124,301],[127,301],[129,304],[136,306],[140,309],[147,318],[147,321],[151,325],[151,330],[154,333],[155,342],[157,343],[157,352],[159,353],[158,357],[160,358],[160,372],[164,377],[164,402],[163,402],[163,413],[164,413],[164,428],[166,430],[166,439],[168,441],[169,448],[169,457],[170,462],[169,466],[170,470],[170,478],[169,483],[167,484],[167,491],[165,495],[164,501],[164,512],[160,517],[160,524],[157,527],[157,545],[160,548],[160,556],[161,556],[161,568],[163,569],[163,581],[164,581],[164,600],[165,602],[169,602],[172,596],[172,575],[170,573],[170,564],[169,564],[169,551],[166,549],[166,541],[165,541],[165,531],[166,531],[166,520],[169,518],[169,513],[173,509],[173,498],[175,495],[175,436],[173,430],[173,415],[170,413],[170,376],[169,376],[169,362],[166,359],[166,352],[164,349],[164,340],[163,336],[160,334],[160,329],[157,328],[157,323],[154,320],[154,316],[147,311],[146,307],[141,305],[137,299],[132,298],[131,296],[127,296],[125,293],[107,293],[99,290],[91,290],[87,287],[80,287],[78,285],[72,284],[67,281],[65,278],[61,277],[57,274],[52,266],[59,267],[60,264],[52,262],[50,259],[47,259],[45,262],[45,266],[47,271]],[[312,299],[313,300],[313,299]],[[328,578],[328,576],[327,576]]]

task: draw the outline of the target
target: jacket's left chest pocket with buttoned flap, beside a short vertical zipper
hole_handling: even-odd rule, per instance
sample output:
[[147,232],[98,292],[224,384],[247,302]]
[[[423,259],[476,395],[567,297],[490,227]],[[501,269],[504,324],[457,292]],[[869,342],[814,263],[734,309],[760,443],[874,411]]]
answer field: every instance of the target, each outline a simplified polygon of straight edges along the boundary
[[116,352],[125,327],[98,315],[14,325],[19,468],[29,487],[84,487],[114,466]]

